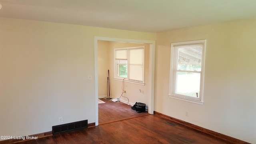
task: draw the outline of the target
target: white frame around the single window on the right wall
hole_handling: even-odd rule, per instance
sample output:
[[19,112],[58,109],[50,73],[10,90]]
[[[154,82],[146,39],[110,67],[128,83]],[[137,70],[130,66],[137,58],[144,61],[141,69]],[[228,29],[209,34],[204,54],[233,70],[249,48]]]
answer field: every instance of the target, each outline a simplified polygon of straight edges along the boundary
[[[200,98],[193,98],[192,96],[185,96],[182,94],[175,94],[175,85],[176,85],[176,66],[178,59],[178,48],[177,46],[182,45],[191,45],[191,44],[202,44],[202,65],[201,65],[201,74],[200,77]],[[196,104],[203,104],[204,98],[204,63],[205,63],[205,50],[206,50],[206,40],[194,40],[187,42],[175,42],[171,44],[171,55],[170,55],[170,80],[169,80],[169,97],[183,100],[186,102],[192,102]],[[197,71],[196,71],[197,72]]]

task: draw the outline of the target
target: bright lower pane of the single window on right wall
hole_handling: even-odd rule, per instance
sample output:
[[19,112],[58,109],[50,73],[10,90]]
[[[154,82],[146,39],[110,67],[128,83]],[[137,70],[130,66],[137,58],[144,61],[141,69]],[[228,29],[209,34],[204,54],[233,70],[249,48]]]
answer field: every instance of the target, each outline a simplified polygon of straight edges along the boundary
[[200,97],[200,73],[176,72],[175,94]]

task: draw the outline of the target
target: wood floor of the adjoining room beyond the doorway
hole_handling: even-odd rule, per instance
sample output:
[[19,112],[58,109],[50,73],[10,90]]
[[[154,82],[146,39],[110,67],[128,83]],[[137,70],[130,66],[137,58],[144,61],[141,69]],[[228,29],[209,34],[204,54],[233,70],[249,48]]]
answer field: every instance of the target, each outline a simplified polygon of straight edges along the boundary
[[106,103],[98,104],[99,125],[149,115],[148,112],[137,113],[131,109],[132,106],[128,106],[123,102],[112,102],[103,98],[100,100]]

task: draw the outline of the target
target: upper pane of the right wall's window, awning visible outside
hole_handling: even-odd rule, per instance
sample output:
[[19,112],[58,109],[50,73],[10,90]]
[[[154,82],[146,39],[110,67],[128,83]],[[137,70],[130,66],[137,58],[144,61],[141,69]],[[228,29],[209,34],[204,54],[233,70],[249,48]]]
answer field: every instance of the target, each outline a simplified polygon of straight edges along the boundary
[[201,71],[202,46],[178,48],[177,70]]

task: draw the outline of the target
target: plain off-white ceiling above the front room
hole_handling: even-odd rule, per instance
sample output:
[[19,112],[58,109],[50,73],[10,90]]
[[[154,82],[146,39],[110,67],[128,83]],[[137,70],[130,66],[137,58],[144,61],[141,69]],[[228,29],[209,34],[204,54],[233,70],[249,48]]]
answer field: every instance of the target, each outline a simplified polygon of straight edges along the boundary
[[0,17],[161,32],[256,17],[256,0],[0,0]]

